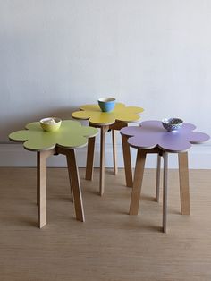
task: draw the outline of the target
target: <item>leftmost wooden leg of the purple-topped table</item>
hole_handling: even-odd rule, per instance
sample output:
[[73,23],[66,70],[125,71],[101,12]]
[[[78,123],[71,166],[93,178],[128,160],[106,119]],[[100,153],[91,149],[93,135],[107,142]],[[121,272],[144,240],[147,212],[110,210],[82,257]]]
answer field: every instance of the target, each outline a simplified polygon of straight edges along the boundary
[[140,191],[144,175],[145,160],[146,152],[141,151],[141,149],[138,149],[134,180],[131,192],[130,215],[138,215],[139,212]]

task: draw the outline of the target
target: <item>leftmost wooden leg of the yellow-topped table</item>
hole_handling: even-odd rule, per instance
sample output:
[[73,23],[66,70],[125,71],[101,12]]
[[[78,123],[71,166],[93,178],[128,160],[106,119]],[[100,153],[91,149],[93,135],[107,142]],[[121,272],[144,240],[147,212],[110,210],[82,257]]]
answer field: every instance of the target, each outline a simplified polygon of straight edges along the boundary
[[89,138],[88,140],[86,180],[89,181],[91,181],[93,177],[95,141],[96,141],[96,137]]

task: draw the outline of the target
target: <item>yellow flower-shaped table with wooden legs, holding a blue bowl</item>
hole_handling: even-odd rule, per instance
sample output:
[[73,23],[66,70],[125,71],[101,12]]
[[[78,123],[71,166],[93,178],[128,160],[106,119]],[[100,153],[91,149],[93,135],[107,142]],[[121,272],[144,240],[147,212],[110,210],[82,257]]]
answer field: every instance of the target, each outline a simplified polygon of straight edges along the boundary
[[[72,113],[76,119],[89,120],[89,125],[100,128],[100,195],[104,193],[105,187],[105,133],[112,131],[113,137],[113,158],[114,158],[114,175],[117,174],[116,151],[115,151],[115,133],[114,130],[120,130],[126,127],[128,123],[139,121],[139,113],[143,108],[137,106],[125,106],[122,103],[116,103],[112,112],[102,112],[98,105],[80,106],[80,111]],[[130,147],[126,139],[122,139],[123,158],[125,166],[126,185],[132,185],[131,175],[131,155]],[[86,179],[92,179],[93,160],[94,160],[95,138],[89,139]]]

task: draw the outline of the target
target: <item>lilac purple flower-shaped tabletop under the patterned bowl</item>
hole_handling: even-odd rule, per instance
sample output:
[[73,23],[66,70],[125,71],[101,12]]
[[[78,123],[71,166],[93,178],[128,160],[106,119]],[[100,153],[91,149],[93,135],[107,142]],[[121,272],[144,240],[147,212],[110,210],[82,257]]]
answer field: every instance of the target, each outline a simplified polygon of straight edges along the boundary
[[153,149],[159,147],[169,152],[183,152],[190,149],[193,143],[209,140],[203,132],[193,132],[196,129],[191,123],[183,123],[177,132],[167,132],[160,121],[145,121],[138,126],[123,128],[122,135],[129,137],[128,143],[136,149]]

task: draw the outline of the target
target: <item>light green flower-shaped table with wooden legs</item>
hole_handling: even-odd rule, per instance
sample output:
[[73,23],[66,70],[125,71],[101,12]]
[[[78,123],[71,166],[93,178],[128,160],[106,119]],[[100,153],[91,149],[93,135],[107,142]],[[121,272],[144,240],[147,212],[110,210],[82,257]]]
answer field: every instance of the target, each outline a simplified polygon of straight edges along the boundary
[[72,200],[76,218],[84,221],[84,211],[80,191],[80,178],[74,149],[84,147],[88,138],[97,135],[97,129],[81,126],[79,122],[64,120],[56,132],[44,132],[38,122],[26,125],[27,130],[12,132],[11,141],[23,142],[25,149],[37,152],[37,203],[38,224],[46,225],[46,158],[63,154],[67,158]]

